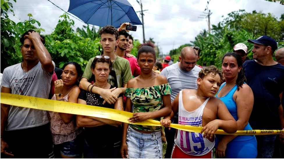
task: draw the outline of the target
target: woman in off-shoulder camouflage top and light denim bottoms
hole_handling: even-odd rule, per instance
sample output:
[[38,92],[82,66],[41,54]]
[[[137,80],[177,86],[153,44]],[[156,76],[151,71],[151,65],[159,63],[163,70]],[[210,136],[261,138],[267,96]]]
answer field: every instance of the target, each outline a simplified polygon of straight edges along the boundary
[[[131,112],[133,105],[133,116],[128,121],[160,121],[171,113],[171,87],[166,77],[152,72],[156,62],[152,43],[140,46],[137,59],[141,75],[129,80],[125,91],[125,111]],[[162,158],[162,147],[161,126],[123,124],[123,158]]]

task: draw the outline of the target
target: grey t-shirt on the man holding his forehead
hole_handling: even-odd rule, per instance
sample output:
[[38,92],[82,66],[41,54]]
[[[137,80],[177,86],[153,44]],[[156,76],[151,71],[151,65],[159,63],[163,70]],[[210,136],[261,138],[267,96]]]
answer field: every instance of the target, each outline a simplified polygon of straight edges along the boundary
[[[55,66],[54,62],[52,61]],[[48,98],[52,74],[41,68],[38,62],[27,73],[23,71],[21,63],[4,69],[2,87],[11,89],[12,94]],[[11,106],[8,114],[6,131],[26,129],[47,124],[47,112],[25,107]]]

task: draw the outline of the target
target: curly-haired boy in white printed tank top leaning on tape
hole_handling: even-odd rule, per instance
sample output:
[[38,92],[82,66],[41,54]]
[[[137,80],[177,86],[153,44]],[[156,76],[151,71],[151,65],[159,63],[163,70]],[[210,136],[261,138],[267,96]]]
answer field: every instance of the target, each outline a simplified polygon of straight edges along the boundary
[[[172,158],[213,158],[214,133],[223,129],[227,133],[237,131],[237,122],[225,104],[214,95],[223,79],[215,66],[203,68],[197,79],[197,89],[183,89],[172,102],[172,113],[161,120],[170,127],[171,118],[178,112],[179,124],[203,126],[200,133],[178,130]],[[177,146],[177,147],[176,147]]]

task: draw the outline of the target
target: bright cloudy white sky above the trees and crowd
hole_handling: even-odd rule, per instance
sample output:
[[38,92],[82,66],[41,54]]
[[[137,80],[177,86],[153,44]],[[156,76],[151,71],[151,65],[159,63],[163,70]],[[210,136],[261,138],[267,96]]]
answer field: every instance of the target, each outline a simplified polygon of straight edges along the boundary
[[[50,0],[57,6],[67,11],[69,0]],[[141,10],[136,0],[128,0],[135,11]],[[54,30],[59,16],[64,13],[47,0],[17,0],[13,3],[15,16],[9,18],[14,22],[28,19],[31,13],[33,18],[41,23],[45,33],[50,34]],[[159,45],[163,54],[168,54],[173,48],[193,41],[195,36],[203,29],[208,30],[207,19],[204,9],[207,0],[142,0],[144,12],[144,29],[146,41],[151,37]],[[208,8],[211,10],[210,23],[217,24],[228,13],[245,9],[247,12],[256,10],[262,13],[273,13],[278,19],[284,13],[284,5],[279,2],[273,3],[265,0],[211,0]],[[207,12],[207,11],[206,11]],[[137,13],[142,22],[141,15]],[[75,21],[74,29],[82,28],[84,22],[71,17]],[[96,28],[99,28],[95,26]],[[130,31],[134,39],[143,42],[142,26],[137,26],[137,31]]]

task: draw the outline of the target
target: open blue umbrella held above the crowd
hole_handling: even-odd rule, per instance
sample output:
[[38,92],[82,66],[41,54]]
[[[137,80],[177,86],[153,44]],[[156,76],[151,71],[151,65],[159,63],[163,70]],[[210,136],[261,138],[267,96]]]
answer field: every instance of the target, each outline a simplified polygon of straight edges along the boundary
[[86,24],[104,27],[120,27],[124,22],[141,24],[133,7],[127,0],[70,0],[68,12]]

